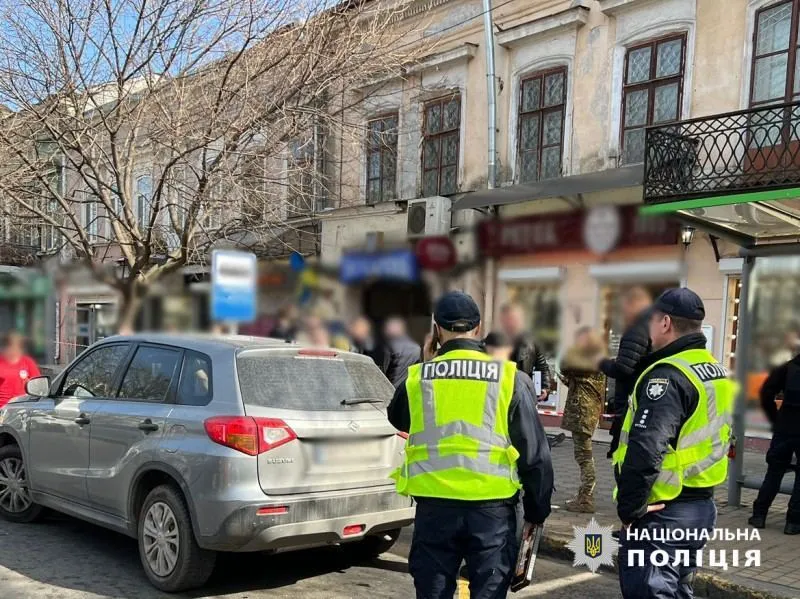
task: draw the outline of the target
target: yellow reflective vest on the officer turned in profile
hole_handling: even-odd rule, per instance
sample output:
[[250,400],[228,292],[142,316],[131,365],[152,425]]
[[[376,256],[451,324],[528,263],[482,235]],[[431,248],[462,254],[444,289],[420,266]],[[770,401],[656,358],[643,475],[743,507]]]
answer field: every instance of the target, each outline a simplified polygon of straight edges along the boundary
[[[653,368],[661,364],[674,366],[683,373],[697,388],[699,401],[681,427],[676,447],[667,448],[648,504],[675,499],[683,487],[713,487],[725,480],[733,406],[738,390],[738,385],[728,378],[725,368],[705,349],[686,350],[652,364],[636,381],[628,399],[619,448],[613,457],[618,472],[628,452],[628,435],[636,414],[639,385],[647,380]],[[614,499],[616,497],[617,490],[614,489]]]

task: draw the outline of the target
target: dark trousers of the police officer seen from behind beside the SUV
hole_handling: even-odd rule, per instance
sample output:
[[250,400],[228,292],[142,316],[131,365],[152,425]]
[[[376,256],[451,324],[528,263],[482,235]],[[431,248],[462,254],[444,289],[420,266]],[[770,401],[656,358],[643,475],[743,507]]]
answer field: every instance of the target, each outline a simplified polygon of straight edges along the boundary
[[452,599],[462,560],[470,599],[508,594],[517,559],[517,507],[417,505],[408,568],[417,599]]

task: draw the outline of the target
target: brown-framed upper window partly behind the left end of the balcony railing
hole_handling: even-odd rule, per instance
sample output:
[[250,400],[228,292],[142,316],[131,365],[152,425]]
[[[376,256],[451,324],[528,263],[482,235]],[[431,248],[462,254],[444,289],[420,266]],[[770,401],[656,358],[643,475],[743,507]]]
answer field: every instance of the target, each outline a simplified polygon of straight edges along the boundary
[[680,118],[686,38],[680,33],[626,50],[620,131],[623,164],[644,160],[645,128]]

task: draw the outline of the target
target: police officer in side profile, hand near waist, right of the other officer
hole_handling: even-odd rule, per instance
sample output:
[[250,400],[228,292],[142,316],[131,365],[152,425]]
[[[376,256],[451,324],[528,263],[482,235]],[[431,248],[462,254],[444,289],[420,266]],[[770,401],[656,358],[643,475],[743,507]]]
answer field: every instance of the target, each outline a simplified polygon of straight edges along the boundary
[[[693,597],[702,531],[711,533],[716,522],[714,487],[727,476],[736,384],[706,349],[704,318],[702,300],[689,289],[668,289],[653,305],[654,351],[634,385],[613,458],[626,598]],[[653,565],[658,550],[669,556],[664,565]]]

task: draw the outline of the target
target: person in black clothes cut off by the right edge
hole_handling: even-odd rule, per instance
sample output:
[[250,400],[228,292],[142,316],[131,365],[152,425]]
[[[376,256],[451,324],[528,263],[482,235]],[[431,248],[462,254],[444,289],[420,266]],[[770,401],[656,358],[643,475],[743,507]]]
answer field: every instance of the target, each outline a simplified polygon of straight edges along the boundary
[[[783,476],[791,468],[792,455],[800,464],[800,354],[774,369],[761,386],[761,406],[772,424],[767,451],[767,474],[753,503],[751,526],[764,528],[767,512],[780,491]],[[782,397],[778,409],[776,399]],[[794,473],[794,489],[786,511],[784,534],[800,534],[800,471]]]

